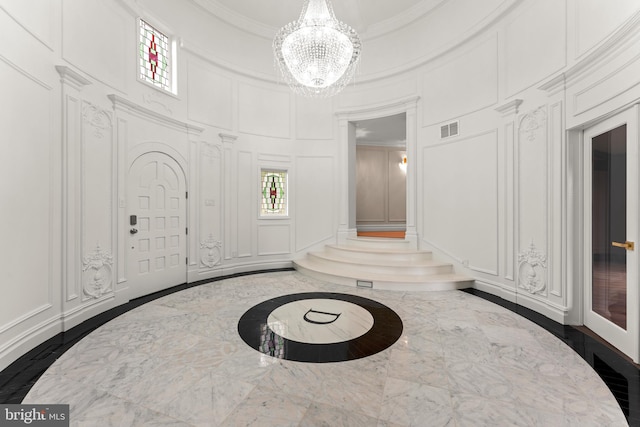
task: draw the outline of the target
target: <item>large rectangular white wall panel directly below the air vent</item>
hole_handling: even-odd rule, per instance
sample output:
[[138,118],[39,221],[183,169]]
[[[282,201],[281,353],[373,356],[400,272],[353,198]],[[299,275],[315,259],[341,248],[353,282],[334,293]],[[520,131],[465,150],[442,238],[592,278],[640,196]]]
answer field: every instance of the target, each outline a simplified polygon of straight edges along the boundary
[[424,148],[425,239],[478,271],[498,269],[497,132]]

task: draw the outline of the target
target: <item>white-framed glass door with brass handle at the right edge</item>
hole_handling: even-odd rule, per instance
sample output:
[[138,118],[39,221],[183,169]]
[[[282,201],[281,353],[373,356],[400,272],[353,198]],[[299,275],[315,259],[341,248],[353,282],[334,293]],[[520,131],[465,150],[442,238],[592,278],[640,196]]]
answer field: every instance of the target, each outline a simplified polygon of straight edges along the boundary
[[636,108],[585,130],[584,143],[584,324],[638,363]]

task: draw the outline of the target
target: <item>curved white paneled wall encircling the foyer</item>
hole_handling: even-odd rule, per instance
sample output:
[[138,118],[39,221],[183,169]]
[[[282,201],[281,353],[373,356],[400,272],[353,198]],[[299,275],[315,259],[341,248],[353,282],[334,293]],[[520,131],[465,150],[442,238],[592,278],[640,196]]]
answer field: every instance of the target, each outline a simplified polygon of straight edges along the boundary
[[[451,0],[372,35],[356,83],[307,100],[277,81],[271,40],[195,3],[0,2],[11,40],[0,48],[2,235],[16,242],[0,249],[0,369],[138,295],[127,262],[137,156],[161,151],[185,170],[185,281],[289,266],[336,238],[348,176],[336,113],[374,118],[416,96],[420,246],[484,290],[579,322],[566,131],[640,99],[637,2],[479,3]],[[177,41],[176,95],[135,77],[138,16]],[[440,139],[452,120],[460,135]],[[262,167],[289,172],[286,218],[258,215]],[[532,244],[547,259],[535,292],[518,275]]]

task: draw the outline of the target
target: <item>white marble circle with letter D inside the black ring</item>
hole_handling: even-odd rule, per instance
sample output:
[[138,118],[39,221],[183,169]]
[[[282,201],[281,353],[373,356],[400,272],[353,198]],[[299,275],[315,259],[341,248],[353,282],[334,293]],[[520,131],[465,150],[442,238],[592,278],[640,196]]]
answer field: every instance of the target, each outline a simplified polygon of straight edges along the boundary
[[267,317],[269,328],[291,341],[332,344],[366,334],[373,316],[357,304],[336,299],[303,299],[281,305]]

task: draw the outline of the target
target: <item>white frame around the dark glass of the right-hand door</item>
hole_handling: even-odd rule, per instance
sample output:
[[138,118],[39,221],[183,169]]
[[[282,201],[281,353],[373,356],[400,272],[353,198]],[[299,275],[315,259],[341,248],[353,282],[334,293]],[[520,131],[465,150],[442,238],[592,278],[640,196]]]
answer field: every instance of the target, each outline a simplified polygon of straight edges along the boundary
[[[637,105],[621,111],[615,115],[610,115],[602,120],[590,123],[579,131],[572,131],[569,135],[572,141],[575,169],[573,171],[574,199],[569,202],[569,211],[572,206],[572,219],[575,221],[573,230],[575,235],[570,246],[575,250],[573,254],[579,257],[573,264],[575,274],[574,281],[574,308],[580,311],[579,324],[587,324],[593,321],[591,312],[591,268],[592,268],[592,248],[591,248],[591,141],[590,135],[600,135],[609,130],[615,129],[623,124],[627,124],[627,212],[631,215],[627,218],[627,240],[638,242],[640,230],[640,218],[638,217],[640,202],[640,183],[638,182],[638,170],[640,168],[640,154],[638,150],[639,134],[639,108]],[[579,135],[578,135],[579,133]],[[579,138],[576,138],[579,136]],[[575,143],[579,147],[575,146]],[[576,163],[580,163],[579,166]],[[575,181],[581,181],[580,185]],[[571,181],[571,179],[570,179]],[[578,189],[579,188],[579,189]],[[570,231],[571,233],[571,231]],[[580,236],[582,235],[582,236]],[[581,250],[580,250],[581,248]],[[599,331],[605,340],[614,341],[620,351],[631,357],[636,363],[640,361],[640,290],[638,263],[640,261],[640,248],[627,252],[627,333],[621,332],[621,328],[604,328]],[[571,276],[569,277],[571,279]],[[577,282],[577,283],[576,283]],[[593,315],[591,315],[593,316]],[[610,335],[610,336],[606,336]]]

